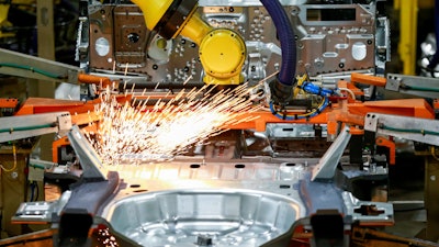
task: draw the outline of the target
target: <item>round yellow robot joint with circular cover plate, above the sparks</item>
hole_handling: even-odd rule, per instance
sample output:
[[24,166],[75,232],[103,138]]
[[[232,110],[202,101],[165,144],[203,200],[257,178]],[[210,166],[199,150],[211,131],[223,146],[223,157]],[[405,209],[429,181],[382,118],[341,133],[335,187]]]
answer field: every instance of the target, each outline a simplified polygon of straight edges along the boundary
[[204,82],[219,85],[241,82],[239,80],[246,58],[246,44],[234,31],[226,29],[211,31],[202,41],[199,55],[209,76],[204,78]]

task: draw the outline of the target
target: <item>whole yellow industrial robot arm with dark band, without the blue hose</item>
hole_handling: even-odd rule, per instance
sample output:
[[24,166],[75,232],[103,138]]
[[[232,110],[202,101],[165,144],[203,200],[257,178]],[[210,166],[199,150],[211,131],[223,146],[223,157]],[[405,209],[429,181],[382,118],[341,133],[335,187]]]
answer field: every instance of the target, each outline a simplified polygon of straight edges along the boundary
[[182,35],[200,46],[199,55],[205,70],[206,85],[239,85],[246,59],[246,44],[238,33],[213,29],[195,12],[196,0],[133,0],[144,12],[149,30],[165,38]]

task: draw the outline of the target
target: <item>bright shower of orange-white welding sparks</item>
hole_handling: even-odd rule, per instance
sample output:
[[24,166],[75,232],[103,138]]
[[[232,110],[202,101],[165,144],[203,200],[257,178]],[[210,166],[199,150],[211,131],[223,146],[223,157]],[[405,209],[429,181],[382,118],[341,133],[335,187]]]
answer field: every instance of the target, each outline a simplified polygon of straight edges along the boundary
[[250,90],[247,85],[215,93],[207,87],[182,90],[154,106],[148,100],[120,104],[109,90],[94,110],[101,119],[97,131],[87,136],[106,165],[169,159],[223,133],[224,126],[255,120],[240,117],[258,110]]

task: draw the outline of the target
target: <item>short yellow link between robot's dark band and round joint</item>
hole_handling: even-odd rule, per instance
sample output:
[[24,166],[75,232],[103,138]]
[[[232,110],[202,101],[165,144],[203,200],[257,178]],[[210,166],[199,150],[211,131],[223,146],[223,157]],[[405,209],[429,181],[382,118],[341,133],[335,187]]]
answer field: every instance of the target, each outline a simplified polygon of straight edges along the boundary
[[[183,23],[183,29],[181,30],[180,35],[189,37],[196,45],[200,45],[205,35],[211,31],[212,26],[204,22],[200,14],[195,12],[185,23]],[[176,36],[177,35],[178,33]]]

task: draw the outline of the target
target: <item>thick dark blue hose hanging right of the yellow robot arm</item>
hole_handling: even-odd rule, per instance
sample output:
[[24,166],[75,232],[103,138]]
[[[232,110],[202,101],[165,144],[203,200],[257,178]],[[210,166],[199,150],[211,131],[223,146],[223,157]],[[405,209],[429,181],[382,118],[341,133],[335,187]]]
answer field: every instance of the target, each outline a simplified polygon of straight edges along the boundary
[[293,27],[279,0],[260,0],[267,9],[278,31],[282,49],[282,65],[278,80],[284,86],[294,86],[296,66],[296,45]]

